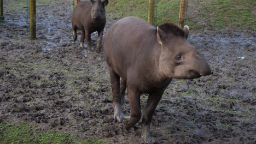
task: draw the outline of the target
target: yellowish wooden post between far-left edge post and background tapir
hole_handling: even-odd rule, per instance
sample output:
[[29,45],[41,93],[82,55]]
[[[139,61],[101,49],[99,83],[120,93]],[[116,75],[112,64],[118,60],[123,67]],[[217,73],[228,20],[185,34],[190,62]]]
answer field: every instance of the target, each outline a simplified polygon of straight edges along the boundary
[[36,0],[30,0],[30,39],[36,39]]

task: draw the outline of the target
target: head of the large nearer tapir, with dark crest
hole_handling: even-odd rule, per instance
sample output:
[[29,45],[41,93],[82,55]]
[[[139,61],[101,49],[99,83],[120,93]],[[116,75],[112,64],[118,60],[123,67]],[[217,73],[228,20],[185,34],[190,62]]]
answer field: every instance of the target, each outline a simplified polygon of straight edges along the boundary
[[194,79],[211,74],[206,59],[188,43],[189,28],[179,28],[173,23],[157,27],[158,43],[161,45],[159,69],[171,79]]

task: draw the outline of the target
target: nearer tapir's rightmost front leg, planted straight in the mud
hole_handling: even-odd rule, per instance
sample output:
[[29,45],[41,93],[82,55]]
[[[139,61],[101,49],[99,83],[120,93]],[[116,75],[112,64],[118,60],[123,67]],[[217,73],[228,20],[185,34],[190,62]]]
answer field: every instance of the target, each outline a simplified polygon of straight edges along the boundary
[[142,118],[142,130],[141,130],[141,142],[142,143],[151,143],[152,140],[150,139],[150,123],[152,120],[153,113],[155,111],[156,106],[158,105],[161,97],[162,92],[149,94],[146,109],[144,111],[144,115]]

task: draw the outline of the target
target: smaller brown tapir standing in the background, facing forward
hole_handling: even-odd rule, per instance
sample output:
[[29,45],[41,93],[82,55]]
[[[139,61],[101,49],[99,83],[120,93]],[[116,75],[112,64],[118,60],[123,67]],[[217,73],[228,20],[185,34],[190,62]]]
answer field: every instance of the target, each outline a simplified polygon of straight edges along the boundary
[[96,52],[101,51],[101,41],[106,25],[105,7],[108,0],[81,1],[78,3],[72,14],[73,39],[77,40],[77,29],[82,30],[80,38],[80,47],[84,47],[84,39],[86,38],[87,49],[91,51],[91,33],[98,32]]

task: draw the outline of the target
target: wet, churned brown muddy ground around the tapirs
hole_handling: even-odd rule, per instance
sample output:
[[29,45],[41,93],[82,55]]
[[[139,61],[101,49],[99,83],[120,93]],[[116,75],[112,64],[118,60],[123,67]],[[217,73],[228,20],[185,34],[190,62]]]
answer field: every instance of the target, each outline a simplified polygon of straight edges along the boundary
[[[35,131],[63,131],[108,143],[138,143],[139,124],[126,130],[113,122],[102,53],[84,57],[78,41],[72,43],[71,12],[67,0],[38,7],[38,39],[31,41],[26,9],[5,11],[6,22],[0,23],[0,122],[28,122],[36,125]],[[115,21],[111,17],[106,30]],[[255,143],[255,32],[197,31],[189,41],[213,74],[171,82],[153,116],[156,143]],[[142,95],[142,109],[146,100]],[[125,107],[129,116],[127,97]]]

